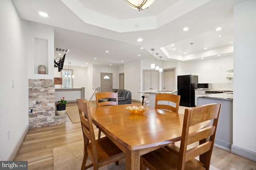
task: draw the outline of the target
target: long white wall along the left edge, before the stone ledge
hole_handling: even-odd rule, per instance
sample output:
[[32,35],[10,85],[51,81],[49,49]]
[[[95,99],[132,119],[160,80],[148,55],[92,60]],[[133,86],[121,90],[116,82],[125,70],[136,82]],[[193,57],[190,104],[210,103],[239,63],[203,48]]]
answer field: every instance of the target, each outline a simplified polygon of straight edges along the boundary
[[22,134],[29,127],[26,37],[28,23],[20,20],[11,0],[1,1],[0,23],[0,160],[8,160]]

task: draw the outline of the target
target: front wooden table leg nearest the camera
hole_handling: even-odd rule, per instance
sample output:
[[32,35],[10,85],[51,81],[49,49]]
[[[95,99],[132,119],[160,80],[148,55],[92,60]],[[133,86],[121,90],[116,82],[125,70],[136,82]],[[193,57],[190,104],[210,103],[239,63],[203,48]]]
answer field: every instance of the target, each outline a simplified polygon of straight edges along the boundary
[[140,169],[140,151],[139,150],[126,149],[125,169],[126,170],[139,170]]

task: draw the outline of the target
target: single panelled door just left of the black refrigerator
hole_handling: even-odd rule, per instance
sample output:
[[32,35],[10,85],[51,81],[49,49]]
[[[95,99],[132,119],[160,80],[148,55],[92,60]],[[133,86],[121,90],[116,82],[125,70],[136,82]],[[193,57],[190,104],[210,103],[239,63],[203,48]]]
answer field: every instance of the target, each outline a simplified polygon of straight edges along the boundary
[[175,90],[174,69],[164,70],[164,90]]

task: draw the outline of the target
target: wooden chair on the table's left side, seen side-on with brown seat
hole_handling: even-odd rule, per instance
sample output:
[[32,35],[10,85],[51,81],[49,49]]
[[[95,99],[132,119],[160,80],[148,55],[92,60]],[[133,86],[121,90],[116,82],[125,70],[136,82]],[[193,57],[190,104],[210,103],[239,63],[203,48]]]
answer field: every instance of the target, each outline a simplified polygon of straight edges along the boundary
[[[77,104],[84,136],[84,159],[81,170],[92,166],[94,170],[98,170],[99,167],[112,162],[118,165],[118,160],[125,158],[124,152],[107,137],[95,139],[89,103],[77,98]],[[92,163],[86,165],[88,155]]]

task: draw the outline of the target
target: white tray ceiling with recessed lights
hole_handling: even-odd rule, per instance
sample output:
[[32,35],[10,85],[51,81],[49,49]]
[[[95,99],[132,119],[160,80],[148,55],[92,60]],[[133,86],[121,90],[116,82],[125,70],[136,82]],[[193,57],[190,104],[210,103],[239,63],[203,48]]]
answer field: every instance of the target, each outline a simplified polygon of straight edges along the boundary
[[[233,6],[243,1],[156,0],[139,12],[123,0],[13,0],[20,18],[54,27],[54,46],[70,49],[65,64],[72,66],[152,59],[152,48],[155,57],[159,53],[166,61],[230,55]],[[39,11],[49,17],[39,16]],[[188,31],[182,31],[184,27]]]

